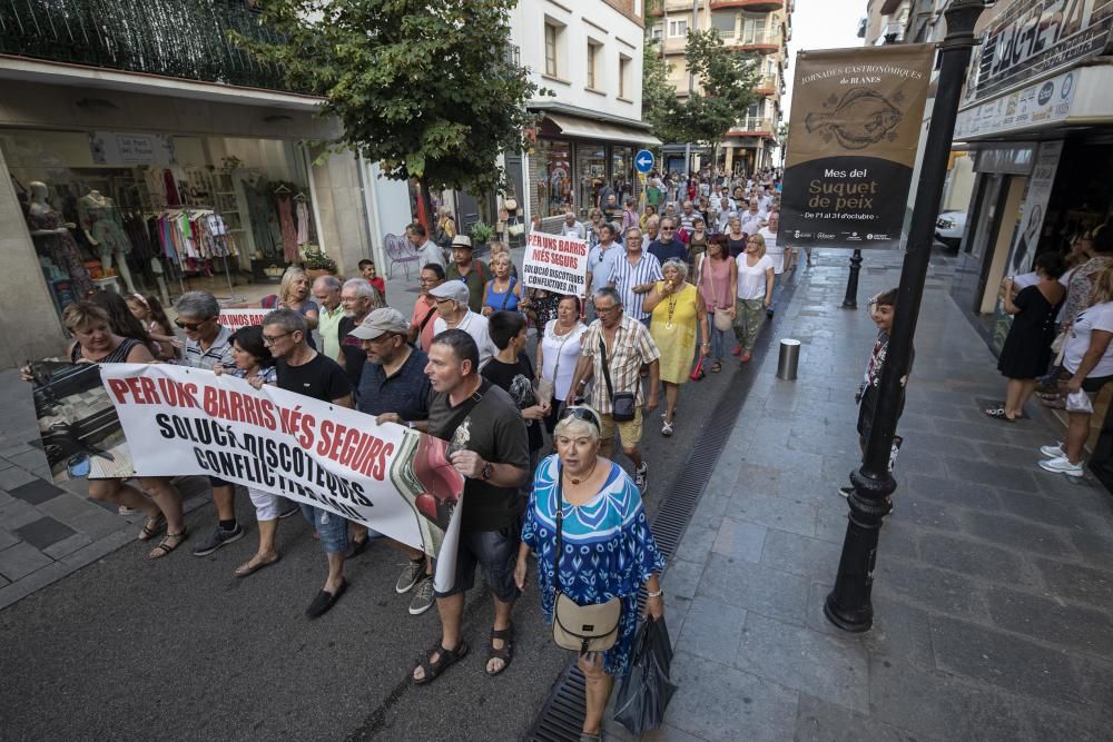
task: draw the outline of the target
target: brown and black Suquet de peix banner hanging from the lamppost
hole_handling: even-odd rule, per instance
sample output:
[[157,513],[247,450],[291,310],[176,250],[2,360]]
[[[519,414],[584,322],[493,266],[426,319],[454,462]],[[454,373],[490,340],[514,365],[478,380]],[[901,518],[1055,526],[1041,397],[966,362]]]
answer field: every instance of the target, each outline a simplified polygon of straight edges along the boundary
[[929,43],[797,55],[780,241],[897,246],[934,58]]

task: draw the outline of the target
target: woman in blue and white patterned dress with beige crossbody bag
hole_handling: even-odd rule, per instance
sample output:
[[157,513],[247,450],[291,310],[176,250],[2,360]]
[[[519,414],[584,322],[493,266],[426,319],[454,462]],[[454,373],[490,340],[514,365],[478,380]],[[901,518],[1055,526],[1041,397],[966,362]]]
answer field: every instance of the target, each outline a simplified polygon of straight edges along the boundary
[[[649,530],[641,495],[621,466],[599,455],[599,415],[590,407],[570,407],[556,424],[556,454],[538,466],[533,493],[522,526],[514,580],[525,588],[526,556],[538,560],[538,585],[545,621],[553,615],[553,551],[558,509],[563,513],[564,557],[560,588],[579,605],[622,598],[619,637],[605,652],[581,654],[587,680],[587,713],[581,742],[600,739],[603,709],[615,675],[626,672],[638,626],[638,591],[649,597],[649,615],[664,615],[659,573],[664,557]],[[563,475],[563,484],[558,479]]]

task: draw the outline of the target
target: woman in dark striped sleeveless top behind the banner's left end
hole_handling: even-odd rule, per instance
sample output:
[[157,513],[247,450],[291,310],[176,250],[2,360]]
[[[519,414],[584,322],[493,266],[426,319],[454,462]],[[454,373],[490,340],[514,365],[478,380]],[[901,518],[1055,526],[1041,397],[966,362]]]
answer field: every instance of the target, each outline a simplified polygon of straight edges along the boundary
[[[62,324],[73,336],[73,345],[69,349],[71,363],[149,364],[155,360],[146,345],[114,333],[108,313],[91,301],[78,301],[66,307]],[[23,369],[24,380],[33,380],[30,370]],[[139,485],[142,493],[126,484],[126,479],[89,479],[89,496],[141,511],[147,521],[139,533],[139,541],[154,538],[165,527],[166,535],[149,554],[150,558],[157,560],[173,552],[186,540],[181,496],[170,484],[169,477],[140,477]]]

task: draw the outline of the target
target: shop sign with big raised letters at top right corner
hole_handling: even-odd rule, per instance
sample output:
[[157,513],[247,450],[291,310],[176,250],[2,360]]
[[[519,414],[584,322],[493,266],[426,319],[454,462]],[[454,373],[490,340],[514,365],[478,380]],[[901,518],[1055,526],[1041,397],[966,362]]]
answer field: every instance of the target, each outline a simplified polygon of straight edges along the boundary
[[967,100],[1101,55],[1111,28],[1113,8],[1095,0],[1014,2],[985,30]]

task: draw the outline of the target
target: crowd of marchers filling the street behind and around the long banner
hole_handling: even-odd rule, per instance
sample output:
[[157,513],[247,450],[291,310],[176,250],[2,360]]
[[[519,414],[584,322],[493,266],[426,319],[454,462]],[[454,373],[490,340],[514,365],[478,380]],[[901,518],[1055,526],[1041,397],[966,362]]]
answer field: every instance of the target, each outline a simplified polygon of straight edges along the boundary
[[[203,291],[178,298],[173,323],[152,296],[97,294],[65,311],[69,359],[184,364],[353,408],[375,418],[368,425],[403,425],[449,441],[466,502],[451,587],[436,590],[434,557],[421,550],[250,487],[257,548],[233,572],[247,577],[278,563],[279,524],[299,513],[325,556],[323,584],[306,609],[315,619],[345,593],[345,561],[374,541],[390,543],[407,557],[395,588],[412,593],[410,613],[435,605],[441,619],[440,639],[413,672],[423,684],[469,652],[463,596],[476,566],[495,609],[485,671],[496,675],[510,665],[513,605],[528,588],[533,554],[549,622],[562,598],[614,606],[611,643],[580,656],[584,735],[597,739],[611,681],[629,662],[639,590],[648,591],[648,613],[663,615],[663,558],[641,501],[649,484],[639,447],[647,416],[661,406],[663,389],[660,434],[673,435],[681,387],[705,362],[711,373],[722,370],[731,344],[741,364],[750,360],[775,310],[778,276],[795,259],[777,244],[779,184],[771,171],[729,184],[653,174],[642,212],[633,200],[613,200],[592,205],[588,224],[569,211],[561,225],[590,247],[582,295],[523,286],[499,244],[484,261],[465,235],[453,234],[445,254],[414,224],[406,234],[424,263],[408,317],[390,306],[370,260],[348,280],[311,280],[293,267],[264,301],[263,324],[235,332]],[[612,458],[615,435],[632,476]],[[237,517],[236,485],[215,476],[209,484],[215,523],[193,540],[196,556],[248,533]],[[155,543],[151,558],[190,536],[169,477],[139,478],[138,488],[90,481],[89,494],[146,516],[138,538]],[[563,558],[573,550],[597,558]]]

